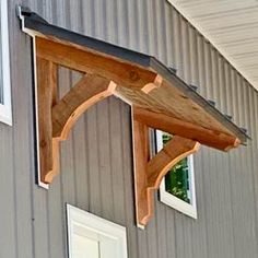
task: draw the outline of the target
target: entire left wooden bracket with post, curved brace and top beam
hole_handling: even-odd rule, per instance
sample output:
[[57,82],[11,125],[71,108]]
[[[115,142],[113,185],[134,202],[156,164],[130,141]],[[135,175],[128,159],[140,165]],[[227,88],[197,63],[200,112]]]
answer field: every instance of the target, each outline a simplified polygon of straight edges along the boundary
[[[119,95],[118,89],[124,86],[149,94],[162,85],[163,78],[140,67],[121,64],[92,51],[46,38],[37,37],[35,49],[38,183],[47,186],[59,171],[59,142],[67,139],[78,118],[89,107],[113,95],[115,91]],[[57,98],[58,66],[84,73],[61,99]]]

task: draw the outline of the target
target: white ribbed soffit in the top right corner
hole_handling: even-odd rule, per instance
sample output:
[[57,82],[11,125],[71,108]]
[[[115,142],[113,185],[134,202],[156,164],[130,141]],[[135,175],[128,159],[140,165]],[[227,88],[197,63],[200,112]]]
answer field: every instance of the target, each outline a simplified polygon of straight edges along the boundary
[[168,0],[258,90],[258,0]]

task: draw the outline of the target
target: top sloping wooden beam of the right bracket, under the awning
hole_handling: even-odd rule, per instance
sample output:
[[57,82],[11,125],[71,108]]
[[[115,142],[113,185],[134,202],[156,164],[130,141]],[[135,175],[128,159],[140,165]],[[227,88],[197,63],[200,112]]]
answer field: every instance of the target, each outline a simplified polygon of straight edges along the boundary
[[171,134],[180,136],[183,138],[192,139],[204,145],[212,146],[222,151],[228,151],[241,144],[241,141],[234,137],[223,132],[213,131],[204,127],[183,121],[177,118],[143,109],[140,107],[133,108],[134,119]]

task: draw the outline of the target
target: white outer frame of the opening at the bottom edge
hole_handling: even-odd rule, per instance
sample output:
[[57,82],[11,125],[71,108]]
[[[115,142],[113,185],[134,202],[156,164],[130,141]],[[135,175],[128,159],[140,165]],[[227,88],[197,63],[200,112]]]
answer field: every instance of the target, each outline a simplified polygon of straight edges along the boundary
[[110,221],[104,220],[90,212],[67,204],[67,225],[68,225],[68,246],[69,246],[69,258],[73,258],[72,254],[72,237],[74,226],[80,226],[85,231],[97,233],[99,235],[112,238],[116,242],[118,247],[117,257],[128,258],[127,255],[127,233],[126,227],[115,224]]

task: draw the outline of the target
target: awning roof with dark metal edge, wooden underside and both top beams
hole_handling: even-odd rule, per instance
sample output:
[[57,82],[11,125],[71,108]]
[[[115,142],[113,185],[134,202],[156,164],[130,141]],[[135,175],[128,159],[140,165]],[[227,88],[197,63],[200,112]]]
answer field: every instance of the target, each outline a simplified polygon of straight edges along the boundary
[[118,84],[116,95],[148,126],[224,151],[246,142],[245,130],[155,57],[49,24],[24,8],[19,12],[40,58],[109,78]]

